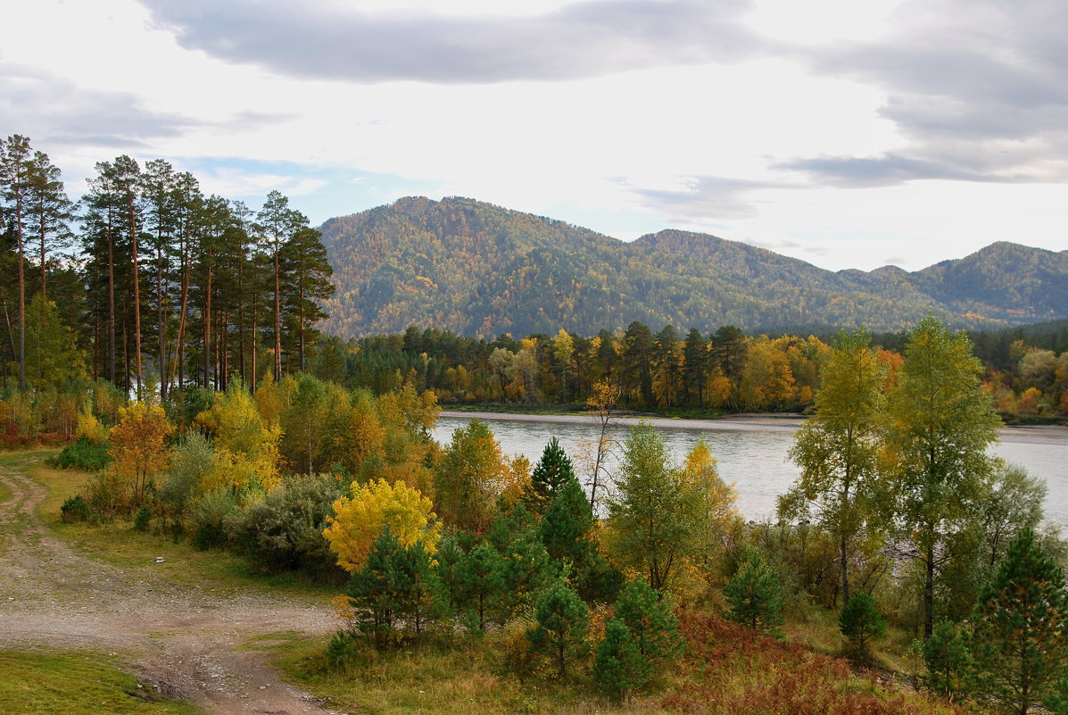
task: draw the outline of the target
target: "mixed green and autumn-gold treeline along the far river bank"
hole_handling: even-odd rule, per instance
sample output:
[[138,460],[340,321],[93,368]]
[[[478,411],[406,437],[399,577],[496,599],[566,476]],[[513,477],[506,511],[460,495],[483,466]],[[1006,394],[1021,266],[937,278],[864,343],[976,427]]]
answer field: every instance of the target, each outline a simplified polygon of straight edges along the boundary
[[[908,333],[874,337],[893,376]],[[1007,418],[1068,415],[1068,328],[1064,322],[973,331],[984,385]],[[442,403],[584,404],[606,382],[618,404],[676,414],[788,410],[813,406],[833,336],[747,336],[734,326],[685,336],[633,322],[592,338],[564,330],[516,340],[462,338],[410,326],[403,335],[325,339],[313,371],[387,392],[411,383]]]

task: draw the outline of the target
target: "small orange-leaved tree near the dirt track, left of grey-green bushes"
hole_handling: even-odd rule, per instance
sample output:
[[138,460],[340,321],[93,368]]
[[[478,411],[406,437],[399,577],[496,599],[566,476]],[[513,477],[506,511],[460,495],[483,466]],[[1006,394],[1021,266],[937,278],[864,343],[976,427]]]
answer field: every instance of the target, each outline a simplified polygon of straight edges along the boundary
[[119,424],[111,429],[109,470],[128,485],[131,506],[144,503],[148,482],[170,465],[171,450],[166,442],[173,432],[158,405],[135,402],[119,408]]

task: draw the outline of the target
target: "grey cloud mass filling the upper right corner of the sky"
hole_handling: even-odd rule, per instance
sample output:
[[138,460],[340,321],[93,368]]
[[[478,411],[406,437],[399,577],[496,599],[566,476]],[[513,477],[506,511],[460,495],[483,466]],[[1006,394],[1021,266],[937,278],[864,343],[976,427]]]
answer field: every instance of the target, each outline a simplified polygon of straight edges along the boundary
[[774,168],[838,187],[1068,182],[1065,27],[1059,0],[922,0],[899,9],[896,31],[878,43],[804,50],[817,73],[883,91],[880,114],[907,143]]

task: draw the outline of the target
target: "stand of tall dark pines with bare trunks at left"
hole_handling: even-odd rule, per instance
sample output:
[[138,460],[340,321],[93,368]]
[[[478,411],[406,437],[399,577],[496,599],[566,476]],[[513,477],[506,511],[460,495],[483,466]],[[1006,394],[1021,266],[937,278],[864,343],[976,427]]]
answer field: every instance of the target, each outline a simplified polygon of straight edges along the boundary
[[166,160],[123,155],[96,165],[76,204],[48,156],[13,135],[0,200],[5,386],[105,378],[166,397],[304,369],[331,268],[278,191],[253,211]]

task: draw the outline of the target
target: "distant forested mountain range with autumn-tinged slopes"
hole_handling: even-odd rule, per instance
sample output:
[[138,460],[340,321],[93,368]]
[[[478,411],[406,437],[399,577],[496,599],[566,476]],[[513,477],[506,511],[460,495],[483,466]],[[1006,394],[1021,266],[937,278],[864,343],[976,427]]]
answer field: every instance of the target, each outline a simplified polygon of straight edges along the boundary
[[337,292],[321,326],[342,337],[409,325],[474,337],[641,321],[703,331],[956,327],[1068,317],[1068,251],[1009,243],[909,273],[824,270],[712,235],[666,230],[626,243],[471,199],[400,199],[321,227]]

